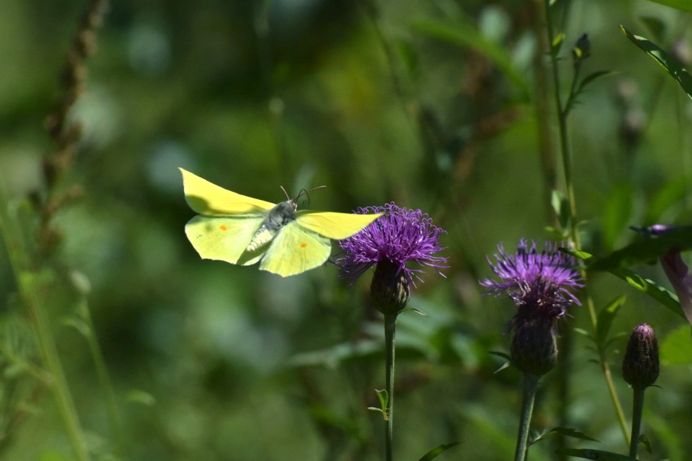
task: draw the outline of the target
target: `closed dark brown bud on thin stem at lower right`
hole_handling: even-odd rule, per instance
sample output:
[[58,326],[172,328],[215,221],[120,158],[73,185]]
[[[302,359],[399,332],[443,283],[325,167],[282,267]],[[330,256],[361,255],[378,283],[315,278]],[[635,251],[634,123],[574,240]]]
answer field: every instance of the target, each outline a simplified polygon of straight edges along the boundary
[[627,343],[622,376],[632,388],[643,389],[656,382],[659,370],[656,334],[646,323],[637,325]]

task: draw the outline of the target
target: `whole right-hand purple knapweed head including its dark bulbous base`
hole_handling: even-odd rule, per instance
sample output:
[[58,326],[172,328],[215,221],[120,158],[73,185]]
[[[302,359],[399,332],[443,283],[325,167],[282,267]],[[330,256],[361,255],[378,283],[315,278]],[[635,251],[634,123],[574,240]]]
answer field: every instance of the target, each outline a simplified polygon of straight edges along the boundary
[[523,372],[540,376],[550,370],[557,359],[555,325],[567,312],[567,307],[579,300],[572,291],[582,286],[574,258],[558,251],[557,244],[547,242],[538,253],[536,242],[529,248],[521,239],[515,254],[495,254],[488,264],[500,281],[480,280],[489,288],[484,294],[502,294],[514,301],[517,313],[509,322],[513,332],[512,361]]

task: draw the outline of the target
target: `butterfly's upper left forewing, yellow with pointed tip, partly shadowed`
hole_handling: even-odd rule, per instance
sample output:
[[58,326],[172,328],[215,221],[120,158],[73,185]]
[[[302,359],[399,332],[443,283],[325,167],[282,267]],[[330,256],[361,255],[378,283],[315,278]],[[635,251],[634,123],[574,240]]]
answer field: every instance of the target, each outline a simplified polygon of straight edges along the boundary
[[197,174],[180,169],[183,174],[185,200],[192,210],[206,216],[259,216],[266,215],[274,204],[236,194],[210,183]]

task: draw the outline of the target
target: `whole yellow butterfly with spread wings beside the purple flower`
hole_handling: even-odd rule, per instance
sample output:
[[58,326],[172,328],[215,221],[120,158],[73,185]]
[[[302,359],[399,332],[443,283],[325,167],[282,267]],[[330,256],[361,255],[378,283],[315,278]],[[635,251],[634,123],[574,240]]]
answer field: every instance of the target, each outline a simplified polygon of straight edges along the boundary
[[324,264],[330,239],[350,237],[381,216],[296,211],[295,200],[272,204],[180,170],[185,201],[199,213],[185,224],[185,235],[207,260],[243,266],[260,262],[263,271],[288,277]]

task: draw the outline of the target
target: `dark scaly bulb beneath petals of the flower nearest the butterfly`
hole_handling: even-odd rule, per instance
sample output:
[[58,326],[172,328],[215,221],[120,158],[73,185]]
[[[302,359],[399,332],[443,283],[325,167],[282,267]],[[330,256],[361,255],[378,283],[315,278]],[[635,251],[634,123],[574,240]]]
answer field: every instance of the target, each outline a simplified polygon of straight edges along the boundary
[[406,272],[397,264],[381,261],[375,266],[370,283],[370,297],[382,314],[399,314],[408,304],[411,288]]

